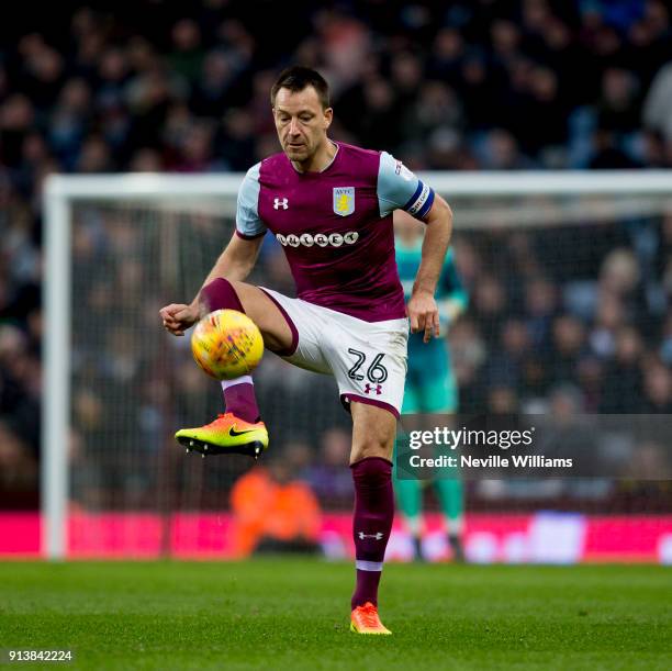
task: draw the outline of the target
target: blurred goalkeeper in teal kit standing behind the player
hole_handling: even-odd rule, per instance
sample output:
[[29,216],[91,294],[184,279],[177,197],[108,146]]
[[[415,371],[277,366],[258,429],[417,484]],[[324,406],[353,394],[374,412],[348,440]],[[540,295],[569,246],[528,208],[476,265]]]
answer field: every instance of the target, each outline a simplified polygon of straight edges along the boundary
[[[399,277],[406,300],[412,295],[413,282],[421,262],[423,225],[411,215],[397,210],[394,213],[395,253]],[[441,335],[467,307],[467,292],[455,267],[452,248],[448,250],[436,288]],[[408,372],[404,389],[402,415],[433,413],[452,414],[458,409],[458,390],[450,366],[450,354],[443,338],[423,343],[423,334],[408,337]],[[396,471],[395,471],[396,472]],[[463,560],[463,488],[462,481],[438,479],[434,481],[441,512],[446,521],[448,539],[457,561]],[[415,557],[422,559],[423,485],[426,481],[402,480],[395,476],[396,502],[411,536]]]

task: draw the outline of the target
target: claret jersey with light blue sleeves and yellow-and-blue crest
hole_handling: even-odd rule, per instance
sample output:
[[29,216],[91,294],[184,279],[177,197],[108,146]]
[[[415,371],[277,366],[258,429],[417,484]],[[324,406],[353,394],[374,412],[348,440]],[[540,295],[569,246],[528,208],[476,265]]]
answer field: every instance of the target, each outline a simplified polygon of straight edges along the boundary
[[238,192],[236,233],[276,236],[300,299],[367,322],[404,317],[392,212],[423,219],[434,192],[385,152],[335,144],[321,172],[298,171],[283,153],[253,166]]

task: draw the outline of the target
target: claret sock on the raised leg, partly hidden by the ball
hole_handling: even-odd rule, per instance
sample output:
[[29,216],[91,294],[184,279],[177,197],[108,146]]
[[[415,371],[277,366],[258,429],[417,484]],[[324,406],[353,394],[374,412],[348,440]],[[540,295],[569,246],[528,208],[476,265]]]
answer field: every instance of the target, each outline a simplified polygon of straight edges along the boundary
[[[225,278],[216,278],[201,289],[200,300],[208,312],[237,310],[245,313],[233,284]],[[222,381],[226,412],[246,422],[259,421],[259,407],[251,376]]]

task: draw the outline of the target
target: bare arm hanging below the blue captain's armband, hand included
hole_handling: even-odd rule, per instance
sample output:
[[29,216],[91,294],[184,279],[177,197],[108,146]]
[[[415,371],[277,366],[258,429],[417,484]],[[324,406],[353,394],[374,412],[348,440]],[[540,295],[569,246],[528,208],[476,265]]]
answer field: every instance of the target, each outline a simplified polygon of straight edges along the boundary
[[439,314],[434,294],[452,234],[452,211],[440,195],[437,194],[434,199],[425,222],[427,230],[423,242],[423,256],[406,309],[411,332],[424,331],[423,339],[428,343],[433,335],[439,335]]

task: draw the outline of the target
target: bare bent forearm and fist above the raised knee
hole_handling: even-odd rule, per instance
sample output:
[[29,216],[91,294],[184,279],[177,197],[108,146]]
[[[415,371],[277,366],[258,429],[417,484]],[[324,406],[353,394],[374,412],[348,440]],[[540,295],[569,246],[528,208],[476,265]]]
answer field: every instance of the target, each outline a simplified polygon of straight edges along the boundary
[[[262,237],[244,239],[234,233],[231,242],[205,278],[203,287],[219,277],[227,280],[245,280],[257,262],[261,241]],[[189,327],[199,321],[203,310],[199,297],[200,292],[189,305],[171,303],[160,309],[159,314],[166,331],[172,335],[182,336]]]

